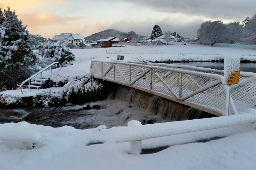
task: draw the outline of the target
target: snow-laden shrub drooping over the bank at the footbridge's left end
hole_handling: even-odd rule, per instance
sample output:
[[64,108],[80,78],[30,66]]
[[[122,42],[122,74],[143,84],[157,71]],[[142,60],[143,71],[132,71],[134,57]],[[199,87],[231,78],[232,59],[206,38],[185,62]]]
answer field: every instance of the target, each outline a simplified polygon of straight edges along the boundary
[[94,79],[92,73],[85,74],[85,76],[76,76],[69,80],[67,84],[64,85],[64,93],[67,97],[71,93],[86,93],[102,88],[102,84],[98,83]]

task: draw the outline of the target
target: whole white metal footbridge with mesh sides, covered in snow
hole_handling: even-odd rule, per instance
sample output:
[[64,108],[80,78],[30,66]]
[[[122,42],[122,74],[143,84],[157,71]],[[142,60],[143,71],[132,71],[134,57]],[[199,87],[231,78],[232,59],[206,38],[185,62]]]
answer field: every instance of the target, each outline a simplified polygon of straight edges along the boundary
[[[224,71],[186,65],[91,61],[95,78],[136,88],[217,116],[237,114],[235,105],[255,105],[256,73],[240,72],[239,84],[224,84]],[[230,102],[229,102],[229,93]]]

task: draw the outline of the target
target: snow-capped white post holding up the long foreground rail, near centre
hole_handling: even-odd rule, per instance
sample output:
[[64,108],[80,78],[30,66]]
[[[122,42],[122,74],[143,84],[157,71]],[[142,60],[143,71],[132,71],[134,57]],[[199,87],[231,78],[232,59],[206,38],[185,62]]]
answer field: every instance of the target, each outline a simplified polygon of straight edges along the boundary
[[[127,126],[131,128],[136,128],[137,126],[141,126],[141,123],[139,121],[132,120],[127,123]],[[131,141],[128,153],[132,155],[140,155],[141,148],[141,140]]]

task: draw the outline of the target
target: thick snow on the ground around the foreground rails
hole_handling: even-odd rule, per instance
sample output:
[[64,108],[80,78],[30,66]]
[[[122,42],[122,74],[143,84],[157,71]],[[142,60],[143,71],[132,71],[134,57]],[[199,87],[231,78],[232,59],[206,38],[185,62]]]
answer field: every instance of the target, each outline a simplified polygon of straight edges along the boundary
[[[256,131],[252,123],[142,140],[143,149],[170,146],[146,155],[129,155],[128,142],[106,142],[111,128],[104,126],[78,130],[21,122],[1,124],[0,128],[22,130],[22,126],[39,133],[41,143],[33,150],[21,150],[21,142],[0,141],[0,169],[255,169]],[[224,138],[200,141],[216,136]],[[88,146],[98,142],[106,143]]]

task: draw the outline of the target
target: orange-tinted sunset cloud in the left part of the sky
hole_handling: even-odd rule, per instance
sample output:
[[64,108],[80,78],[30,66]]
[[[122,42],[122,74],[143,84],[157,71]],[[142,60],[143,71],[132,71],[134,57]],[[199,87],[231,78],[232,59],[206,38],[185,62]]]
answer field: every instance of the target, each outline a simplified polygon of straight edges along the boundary
[[22,20],[24,25],[28,25],[28,27],[38,27],[46,25],[69,25],[69,21],[78,21],[86,17],[62,17],[48,12],[36,12],[32,14],[20,14],[18,18]]

